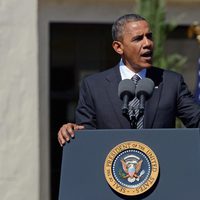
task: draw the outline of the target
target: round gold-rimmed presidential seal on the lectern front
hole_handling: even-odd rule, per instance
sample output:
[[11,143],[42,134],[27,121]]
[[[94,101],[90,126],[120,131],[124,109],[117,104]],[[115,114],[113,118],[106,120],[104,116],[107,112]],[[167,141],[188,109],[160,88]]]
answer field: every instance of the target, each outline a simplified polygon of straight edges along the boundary
[[104,163],[105,178],[116,192],[135,196],[148,191],[156,182],[159,163],[145,144],[128,141],[114,147]]

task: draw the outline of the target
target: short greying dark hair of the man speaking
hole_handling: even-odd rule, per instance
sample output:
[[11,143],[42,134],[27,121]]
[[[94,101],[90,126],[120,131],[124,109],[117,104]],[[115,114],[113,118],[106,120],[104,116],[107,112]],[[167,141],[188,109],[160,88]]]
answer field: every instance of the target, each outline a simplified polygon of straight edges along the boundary
[[142,21],[142,20],[146,21],[144,17],[138,14],[127,14],[118,18],[112,26],[113,41],[122,39],[124,26],[127,22],[136,22],[136,21]]

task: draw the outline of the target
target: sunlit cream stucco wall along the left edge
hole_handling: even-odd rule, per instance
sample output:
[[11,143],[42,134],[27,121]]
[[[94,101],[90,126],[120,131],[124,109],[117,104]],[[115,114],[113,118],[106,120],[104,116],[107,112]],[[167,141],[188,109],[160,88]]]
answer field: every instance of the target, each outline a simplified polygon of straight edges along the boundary
[[37,1],[0,1],[0,199],[39,199]]

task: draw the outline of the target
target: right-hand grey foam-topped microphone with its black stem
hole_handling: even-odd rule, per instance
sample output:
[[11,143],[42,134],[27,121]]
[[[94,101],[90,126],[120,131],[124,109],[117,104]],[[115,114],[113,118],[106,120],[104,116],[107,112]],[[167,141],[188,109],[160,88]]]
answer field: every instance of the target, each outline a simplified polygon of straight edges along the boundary
[[138,81],[135,94],[139,99],[139,113],[144,114],[145,101],[151,97],[154,90],[154,82],[149,78],[143,78]]

